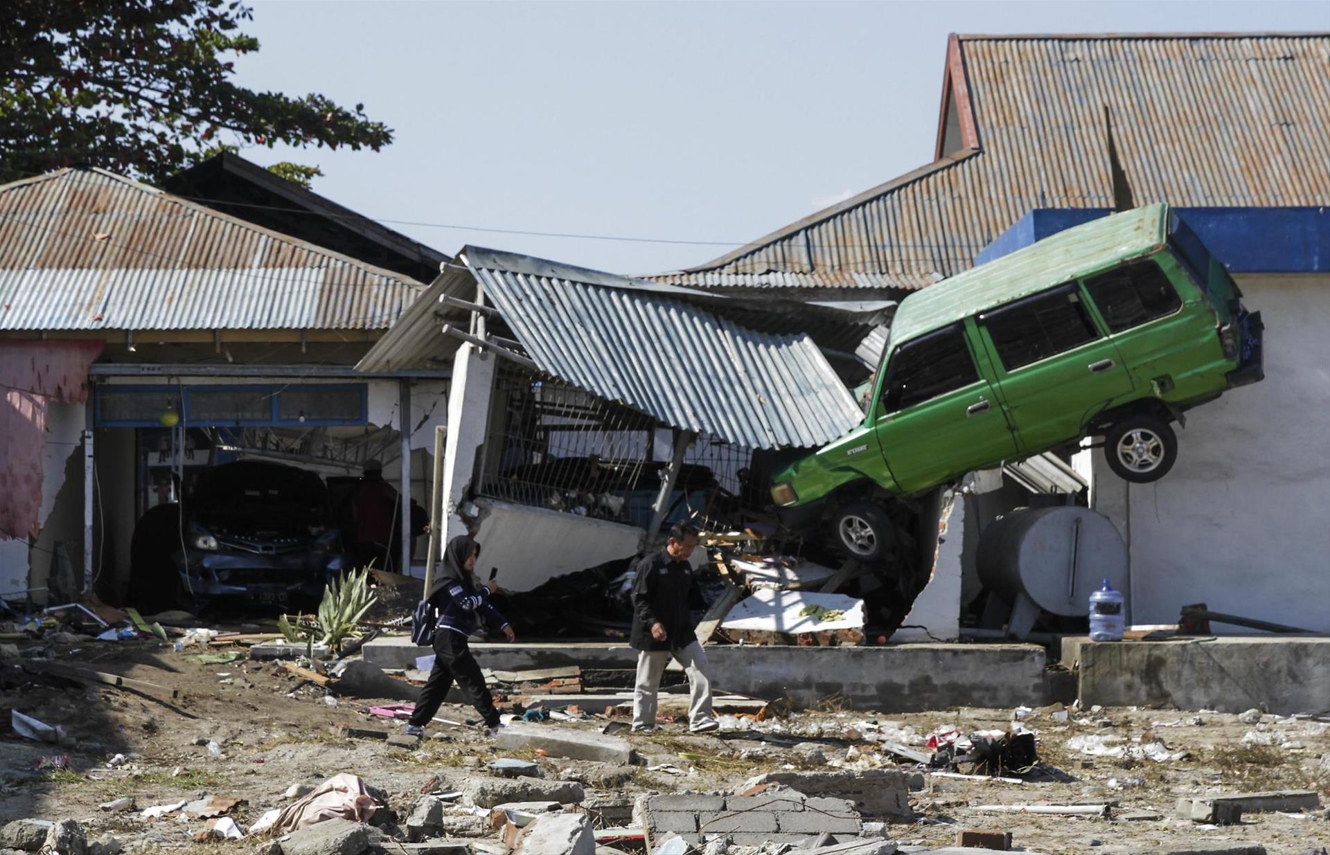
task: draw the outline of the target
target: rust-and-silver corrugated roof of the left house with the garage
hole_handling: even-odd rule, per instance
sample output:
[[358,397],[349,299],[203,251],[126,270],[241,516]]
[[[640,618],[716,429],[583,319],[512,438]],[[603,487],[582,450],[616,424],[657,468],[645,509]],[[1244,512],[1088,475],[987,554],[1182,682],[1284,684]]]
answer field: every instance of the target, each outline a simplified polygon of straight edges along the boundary
[[0,186],[0,330],[384,330],[423,290],[100,169]]

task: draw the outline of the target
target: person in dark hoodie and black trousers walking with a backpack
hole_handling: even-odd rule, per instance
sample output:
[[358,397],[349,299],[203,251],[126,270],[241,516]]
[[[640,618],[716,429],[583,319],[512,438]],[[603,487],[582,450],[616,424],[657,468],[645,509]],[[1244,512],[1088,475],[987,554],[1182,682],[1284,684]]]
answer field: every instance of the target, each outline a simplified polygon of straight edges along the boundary
[[480,664],[467,646],[467,637],[476,630],[477,617],[489,629],[501,630],[508,641],[515,641],[516,636],[503,614],[499,614],[499,609],[489,605],[489,597],[499,590],[497,582],[489,580],[484,585],[476,584],[475,568],[479,557],[480,544],[471,537],[462,535],[448,541],[442,572],[426,600],[439,617],[434,630],[434,670],[430,672],[430,679],[420,690],[415,713],[407,722],[410,735],[424,734],[424,726],[439,711],[439,705],[448,695],[454,681],[458,681],[458,687],[480,713],[489,733],[499,727],[499,710],[495,709],[493,697],[485,686]]

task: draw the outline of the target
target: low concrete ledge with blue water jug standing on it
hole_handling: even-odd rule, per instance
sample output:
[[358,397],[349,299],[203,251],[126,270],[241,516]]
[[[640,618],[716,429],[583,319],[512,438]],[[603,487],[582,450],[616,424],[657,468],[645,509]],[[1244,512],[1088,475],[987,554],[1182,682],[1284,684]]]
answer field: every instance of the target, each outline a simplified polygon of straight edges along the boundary
[[1083,705],[1321,713],[1330,698],[1330,637],[1224,636],[1166,641],[1063,638],[1079,662]]

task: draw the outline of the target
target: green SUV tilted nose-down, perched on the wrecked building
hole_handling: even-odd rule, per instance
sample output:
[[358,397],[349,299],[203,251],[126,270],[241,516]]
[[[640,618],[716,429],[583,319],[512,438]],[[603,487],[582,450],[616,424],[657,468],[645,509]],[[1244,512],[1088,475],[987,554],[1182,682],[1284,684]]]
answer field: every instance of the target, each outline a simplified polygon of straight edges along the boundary
[[1169,426],[1262,374],[1261,315],[1166,205],[1068,229],[902,301],[867,418],[775,475],[794,531],[884,556],[883,507],[1085,436],[1129,481],[1162,477]]

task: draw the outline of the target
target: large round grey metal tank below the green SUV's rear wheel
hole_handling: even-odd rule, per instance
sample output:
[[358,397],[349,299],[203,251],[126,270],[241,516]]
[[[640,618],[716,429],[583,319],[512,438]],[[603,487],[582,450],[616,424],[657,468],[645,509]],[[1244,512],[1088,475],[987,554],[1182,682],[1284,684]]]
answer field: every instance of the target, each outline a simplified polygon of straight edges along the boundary
[[1011,604],[1011,633],[1028,634],[1039,612],[1089,614],[1089,596],[1109,584],[1127,590],[1127,544],[1108,517],[1075,505],[1016,508],[984,529],[979,578]]

